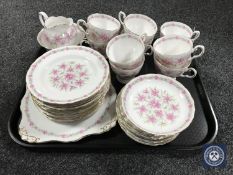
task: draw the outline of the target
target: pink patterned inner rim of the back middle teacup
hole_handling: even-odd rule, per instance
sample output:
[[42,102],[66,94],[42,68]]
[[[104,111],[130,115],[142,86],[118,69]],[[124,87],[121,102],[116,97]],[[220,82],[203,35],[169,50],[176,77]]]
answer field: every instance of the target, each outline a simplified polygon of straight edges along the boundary
[[[152,37],[152,36],[154,36],[154,35],[157,33],[157,31],[158,31],[158,26],[157,26],[156,22],[155,22],[152,18],[150,18],[149,16],[146,16],[146,15],[143,15],[143,14],[137,14],[137,13],[129,14],[129,15],[127,15],[127,16],[125,17],[125,19],[123,20],[123,21],[124,21],[124,24],[125,24],[125,27],[126,27],[129,31],[131,31],[131,30],[127,27],[126,22],[127,22],[127,20],[130,20],[130,18],[133,18],[133,17],[136,17],[136,18],[140,17],[140,18],[144,19],[145,21],[149,22],[150,24],[152,24],[153,29],[154,29],[154,33],[153,33],[152,35],[148,35],[148,34],[147,34],[148,37]],[[131,32],[132,32],[132,31],[131,31]],[[132,32],[132,33],[134,33],[134,32]],[[136,33],[135,33],[135,34],[136,34]],[[137,34],[137,35],[138,35],[138,34]]]

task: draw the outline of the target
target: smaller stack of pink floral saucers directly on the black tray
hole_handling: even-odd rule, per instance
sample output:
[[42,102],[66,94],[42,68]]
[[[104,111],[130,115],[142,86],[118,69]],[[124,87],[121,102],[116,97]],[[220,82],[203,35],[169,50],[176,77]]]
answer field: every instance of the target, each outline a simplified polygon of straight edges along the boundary
[[147,74],[131,80],[116,102],[120,127],[133,140],[151,146],[174,140],[194,118],[194,101],[176,80]]

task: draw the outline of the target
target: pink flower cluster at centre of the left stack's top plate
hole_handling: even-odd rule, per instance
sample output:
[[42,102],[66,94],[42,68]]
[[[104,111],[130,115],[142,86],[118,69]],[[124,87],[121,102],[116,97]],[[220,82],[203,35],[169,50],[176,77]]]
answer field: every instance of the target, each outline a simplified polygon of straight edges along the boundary
[[71,91],[81,88],[89,79],[87,69],[80,63],[73,61],[62,63],[50,72],[50,81],[53,87],[61,91]]

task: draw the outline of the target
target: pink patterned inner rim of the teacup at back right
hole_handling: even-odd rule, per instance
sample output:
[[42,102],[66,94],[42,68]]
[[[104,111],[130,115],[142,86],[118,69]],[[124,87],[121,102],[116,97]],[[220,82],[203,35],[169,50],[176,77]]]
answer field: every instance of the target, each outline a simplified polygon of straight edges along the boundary
[[170,26],[185,29],[188,32],[188,34],[190,35],[189,36],[190,38],[193,35],[193,30],[187,24],[184,24],[184,23],[178,22],[178,21],[168,21],[168,22],[163,23],[160,27],[160,32],[162,33],[163,36],[166,36],[166,34],[164,34],[164,32],[163,32],[163,29],[166,27],[170,27]]

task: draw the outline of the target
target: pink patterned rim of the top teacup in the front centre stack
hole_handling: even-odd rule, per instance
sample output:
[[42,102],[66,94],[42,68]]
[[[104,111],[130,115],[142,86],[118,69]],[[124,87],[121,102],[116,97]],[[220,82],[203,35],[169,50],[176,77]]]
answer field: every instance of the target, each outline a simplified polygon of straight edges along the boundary
[[[142,46],[142,53],[140,55],[138,55],[137,58],[135,58],[131,64],[124,64],[124,63],[119,63],[115,60],[117,60],[117,58],[114,58],[114,57],[110,57],[110,48],[113,46],[114,42],[118,41],[119,39],[123,39],[123,38],[133,38],[135,39],[137,42],[140,42],[141,46]],[[106,55],[109,59],[110,62],[112,62],[113,64],[117,65],[117,66],[123,66],[123,67],[127,67],[127,66],[130,66],[130,65],[134,65],[136,64],[138,61],[138,59],[144,54],[145,52],[145,45],[144,45],[144,42],[142,40],[141,37],[135,35],[135,34],[130,34],[130,33],[124,33],[124,34],[120,34],[120,35],[117,35],[115,37],[113,37],[107,44],[107,47],[106,47]]]

